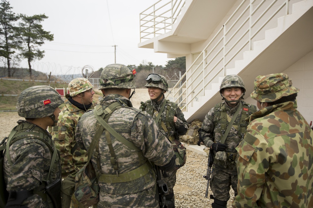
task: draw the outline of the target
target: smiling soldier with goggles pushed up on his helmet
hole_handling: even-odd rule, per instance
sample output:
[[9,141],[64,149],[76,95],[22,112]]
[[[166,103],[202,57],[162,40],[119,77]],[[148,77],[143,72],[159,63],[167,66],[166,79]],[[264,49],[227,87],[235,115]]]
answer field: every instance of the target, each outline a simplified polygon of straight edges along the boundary
[[164,93],[168,91],[168,84],[164,76],[149,74],[146,77],[146,82],[145,87],[148,88],[150,100],[147,100],[145,103],[141,102],[140,109],[152,116],[159,130],[171,141],[177,158],[179,158],[178,151],[183,155],[182,160],[177,163],[174,170],[161,174],[162,181],[164,181],[168,187],[168,193],[165,196],[166,202],[168,207],[172,208],[175,207],[173,187],[176,183],[176,172],[177,169],[182,167],[186,162],[186,149],[178,139],[179,135],[186,134],[188,123],[178,105],[165,99]]

